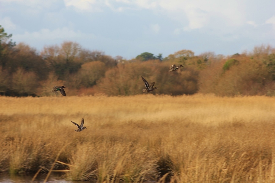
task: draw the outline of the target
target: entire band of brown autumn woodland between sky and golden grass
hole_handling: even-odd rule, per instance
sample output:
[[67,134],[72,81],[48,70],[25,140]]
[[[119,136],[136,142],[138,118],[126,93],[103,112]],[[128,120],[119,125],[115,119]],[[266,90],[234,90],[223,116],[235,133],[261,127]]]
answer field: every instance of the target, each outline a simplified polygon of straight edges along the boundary
[[[68,95],[136,95],[145,88],[141,76],[155,81],[158,90],[152,94],[275,95],[275,48],[270,45],[231,56],[183,49],[165,58],[145,52],[127,60],[72,41],[38,52],[11,38],[0,26],[0,95],[49,96],[55,85],[64,85]],[[168,72],[172,64],[184,66],[181,74]]]

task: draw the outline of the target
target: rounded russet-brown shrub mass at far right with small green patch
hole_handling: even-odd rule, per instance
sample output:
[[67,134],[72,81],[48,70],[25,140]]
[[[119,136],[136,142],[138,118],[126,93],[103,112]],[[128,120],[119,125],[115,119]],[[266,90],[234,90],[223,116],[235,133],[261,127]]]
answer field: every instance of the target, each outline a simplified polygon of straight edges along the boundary
[[273,95],[271,91],[275,83],[267,67],[249,56],[239,57],[241,62],[229,59],[225,64],[217,63],[204,70],[200,77],[200,92],[220,96]]

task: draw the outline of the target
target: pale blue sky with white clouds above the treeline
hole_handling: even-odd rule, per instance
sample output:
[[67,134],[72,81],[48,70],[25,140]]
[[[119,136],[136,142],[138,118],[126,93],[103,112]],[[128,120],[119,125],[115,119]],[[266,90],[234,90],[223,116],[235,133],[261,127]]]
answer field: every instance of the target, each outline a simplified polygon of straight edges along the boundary
[[37,50],[76,41],[127,59],[182,49],[232,55],[275,46],[275,1],[0,0],[0,25]]

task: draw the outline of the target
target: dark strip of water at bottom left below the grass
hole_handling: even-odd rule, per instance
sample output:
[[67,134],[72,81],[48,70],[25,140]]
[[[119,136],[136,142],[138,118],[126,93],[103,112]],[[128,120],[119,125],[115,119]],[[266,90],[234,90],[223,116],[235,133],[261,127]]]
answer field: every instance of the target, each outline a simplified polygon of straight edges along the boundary
[[[3,174],[0,173],[0,183],[29,183],[34,175],[23,175],[23,174]],[[46,174],[38,175],[33,183],[42,183],[46,178]],[[85,181],[66,181],[60,174],[51,174],[48,183],[83,183]]]

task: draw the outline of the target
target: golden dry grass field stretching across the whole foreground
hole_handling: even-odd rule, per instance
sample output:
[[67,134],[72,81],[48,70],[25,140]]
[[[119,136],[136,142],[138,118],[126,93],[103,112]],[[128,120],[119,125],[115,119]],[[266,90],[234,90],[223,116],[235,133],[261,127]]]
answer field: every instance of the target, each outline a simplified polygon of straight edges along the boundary
[[0,171],[47,172],[60,153],[69,180],[275,181],[274,97],[0,97],[0,124]]

